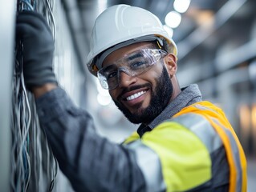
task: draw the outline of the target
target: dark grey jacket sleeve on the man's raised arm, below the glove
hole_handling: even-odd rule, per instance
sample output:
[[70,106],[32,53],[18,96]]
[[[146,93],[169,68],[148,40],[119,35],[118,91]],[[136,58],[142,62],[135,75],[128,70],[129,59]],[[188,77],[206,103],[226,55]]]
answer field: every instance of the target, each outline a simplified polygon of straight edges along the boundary
[[75,191],[144,191],[132,150],[97,134],[90,114],[75,107],[64,90],[51,90],[36,103],[59,167]]

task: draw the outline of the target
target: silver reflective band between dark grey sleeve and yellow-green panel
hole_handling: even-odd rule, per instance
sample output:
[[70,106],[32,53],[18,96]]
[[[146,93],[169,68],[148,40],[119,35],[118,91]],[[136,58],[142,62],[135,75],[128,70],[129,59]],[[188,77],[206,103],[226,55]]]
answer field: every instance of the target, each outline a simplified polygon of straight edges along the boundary
[[140,140],[128,144],[126,147],[133,150],[136,155],[136,162],[144,174],[148,192],[165,191],[166,186],[162,174],[160,158],[148,146]]

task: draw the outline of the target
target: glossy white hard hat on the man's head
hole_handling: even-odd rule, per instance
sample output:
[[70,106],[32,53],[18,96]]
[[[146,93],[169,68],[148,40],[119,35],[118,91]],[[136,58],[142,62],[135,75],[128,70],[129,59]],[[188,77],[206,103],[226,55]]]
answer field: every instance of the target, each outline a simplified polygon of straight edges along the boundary
[[[87,67],[91,74],[96,76],[97,71],[102,67],[104,58],[112,51],[135,42],[155,40],[167,42],[169,52],[177,56],[175,42],[169,37],[156,15],[136,6],[124,4],[111,6],[95,20],[91,34],[90,53],[87,55]],[[103,52],[104,57],[101,57],[100,62],[96,62],[95,58]]]

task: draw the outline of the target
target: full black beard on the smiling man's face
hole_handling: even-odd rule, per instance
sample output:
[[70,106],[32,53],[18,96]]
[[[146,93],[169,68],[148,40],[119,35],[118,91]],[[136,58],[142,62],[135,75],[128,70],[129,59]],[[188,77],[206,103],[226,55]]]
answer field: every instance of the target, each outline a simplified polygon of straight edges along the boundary
[[149,106],[145,109],[140,109],[141,104],[137,105],[138,112],[132,114],[125,106],[119,102],[115,102],[116,106],[126,118],[132,123],[149,123],[156,118],[165,107],[169,104],[170,98],[173,94],[173,84],[169,78],[169,74],[165,67],[163,67],[161,76],[156,79],[156,90],[152,90],[152,99]]

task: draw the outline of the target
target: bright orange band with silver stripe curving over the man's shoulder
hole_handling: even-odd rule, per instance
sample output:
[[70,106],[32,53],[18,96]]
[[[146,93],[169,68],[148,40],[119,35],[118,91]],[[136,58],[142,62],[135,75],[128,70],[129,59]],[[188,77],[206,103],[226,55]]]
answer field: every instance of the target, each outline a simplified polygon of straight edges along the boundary
[[[237,190],[241,190],[242,192],[246,191],[246,156],[244,154],[244,151],[242,150],[242,146],[238,140],[237,135],[235,134],[232,126],[230,125],[230,122],[227,120],[222,110],[217,108],[216,106],[213,106],[210,102],[197,102],[192,106],[185,107],[178,114],[174,115],[174,117],[187,113],[202,115],[211,123],[211,125],[219,134],[226,149],[226,154],[230,165],[230,192],[234,192]],[[213,119],[215,119],[220,124],[215,122]],[[238,148],[240,158],[239,161],[235,159],[235,147],[232,146],[230,143],[231,141],[228,133],[226,132],[227,130],[230,132],[230,134],[232,134],[232,138],[234,138],[234,141]],[[242,173],[238,173],[238,171]],[[240,174],[242,174],[242,176],[240,176]]]

